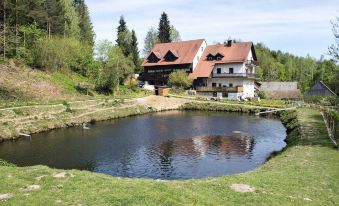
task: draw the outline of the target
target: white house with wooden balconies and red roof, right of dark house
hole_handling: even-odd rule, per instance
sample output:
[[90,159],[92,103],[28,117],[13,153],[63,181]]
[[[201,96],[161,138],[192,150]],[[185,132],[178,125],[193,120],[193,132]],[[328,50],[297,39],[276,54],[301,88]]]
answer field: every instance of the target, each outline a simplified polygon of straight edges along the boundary
[[228,99],[253,98],[257,58],[252,42],[207,46],[190,74],[199,94]]

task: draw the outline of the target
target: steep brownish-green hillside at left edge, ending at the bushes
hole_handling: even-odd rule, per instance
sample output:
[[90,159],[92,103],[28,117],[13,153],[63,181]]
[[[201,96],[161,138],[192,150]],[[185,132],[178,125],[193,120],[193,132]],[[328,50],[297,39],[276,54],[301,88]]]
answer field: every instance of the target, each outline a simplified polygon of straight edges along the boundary
[[14,64],[0,65],[0,103],[87,99],[77,90],[77,85],[84,82],[90,81],[70,71],[44,72]]

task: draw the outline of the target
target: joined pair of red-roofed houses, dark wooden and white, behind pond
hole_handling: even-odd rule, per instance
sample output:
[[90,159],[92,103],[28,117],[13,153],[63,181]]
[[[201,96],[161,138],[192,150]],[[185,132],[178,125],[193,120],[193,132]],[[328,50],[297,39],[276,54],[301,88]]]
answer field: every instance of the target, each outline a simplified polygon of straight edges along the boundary
[[197,39],[156,44],[143,63],[143,77],[151,85],[166,85],[171,72],[184,70],[199,94],[252,98],[256,64],[252,42],[207,45],[204,39]]

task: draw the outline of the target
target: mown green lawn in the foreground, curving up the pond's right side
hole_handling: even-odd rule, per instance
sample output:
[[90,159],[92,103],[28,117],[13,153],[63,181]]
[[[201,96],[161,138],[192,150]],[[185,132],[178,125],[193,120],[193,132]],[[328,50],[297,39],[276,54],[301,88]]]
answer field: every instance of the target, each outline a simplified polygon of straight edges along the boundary
[[[294,116],[295,117],[295,116]],[[284,115],[290,123],[293,114]],[[338,205],[339,152],[327,137],[320,112],[298,110],[290,124],[292,143],[262,167],[243,174],[187,181],[116,178],[45,166],[0,167],[1,205]],[[300,126],[299,126],[300,125]],[[37,177],[43,176],[40,180]],[[253,193],[230,186],[248,184]],[[40,185],[25,191],[28,185]]]

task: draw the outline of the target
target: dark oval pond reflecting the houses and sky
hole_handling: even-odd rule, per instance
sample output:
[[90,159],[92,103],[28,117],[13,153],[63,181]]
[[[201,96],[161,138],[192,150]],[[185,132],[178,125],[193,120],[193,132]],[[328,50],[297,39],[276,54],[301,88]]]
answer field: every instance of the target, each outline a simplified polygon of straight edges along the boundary
[[169,111],[0,144],[0,159],[121,177],[191,179],[253,170],[285,147],[279,119]]

